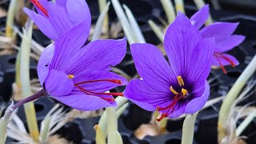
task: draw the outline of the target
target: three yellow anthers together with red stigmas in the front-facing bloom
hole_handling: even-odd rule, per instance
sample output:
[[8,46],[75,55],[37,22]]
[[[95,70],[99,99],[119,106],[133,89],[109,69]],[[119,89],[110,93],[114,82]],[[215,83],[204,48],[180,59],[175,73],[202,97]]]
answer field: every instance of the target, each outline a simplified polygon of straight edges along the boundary
[[[178,80],[178,85],[179,86],[184,86],[184,81],[181,76],[177,77]],[[189,96],[189,93],[187,92],[186,89],[182,88],[181,92],[178,93],[176,90],[174,90],[173,86],[170,86],[170,91],[175,94],[173,101],[170,103],[170,105],[165,106],[165,107],[160,107],[157,106],[157,111],[162,111],[162,110],[167,110],[166,113],[162,113],[160,118],[157,119],[158,122],[162,120],[162,118],[166,118],[168,115],[172,114],[175,109],[175,105],[178,103],[178,101],[182,98],[187,98]]]

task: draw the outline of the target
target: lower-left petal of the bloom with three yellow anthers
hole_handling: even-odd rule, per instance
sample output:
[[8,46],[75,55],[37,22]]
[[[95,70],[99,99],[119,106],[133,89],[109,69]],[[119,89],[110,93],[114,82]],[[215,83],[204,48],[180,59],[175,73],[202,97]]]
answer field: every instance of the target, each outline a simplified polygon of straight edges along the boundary
[[124,96],[142,109],[154,111],[157,106],[164,107],[172,101],[169,87],[166,86],[165,91],[157,90],[144,80],[134,79],[126,86]]

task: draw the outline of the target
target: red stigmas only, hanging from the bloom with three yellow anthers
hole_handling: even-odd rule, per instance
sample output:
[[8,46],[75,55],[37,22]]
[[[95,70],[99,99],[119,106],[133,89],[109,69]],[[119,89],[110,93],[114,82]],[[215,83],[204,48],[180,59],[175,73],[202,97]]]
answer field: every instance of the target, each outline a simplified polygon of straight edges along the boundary
[[[180,97],[178,97],[179,95],[181,95]],[[163,113],[161,114],[160,118],[157,119],[158,122],[162,121],[162,118],[166,118],[168,115],[172,114],[174,112],[174,108],[175,108],[175,105],[176,103],[178,102],[178,100],[180,100],[181,98],[185,98],[186,96],[183,95],[182,93],[179,93],[179,94],[176,94],[173,98],[173,102],[170,103],[169,106],[166,106],[166,107],[159,107],[157,106],[157,111],[162,111],[162,110],[167,110],[166,113]],[[171,110],[171,112],[170,112]],[[170,112],[170,114],[169,114]]]

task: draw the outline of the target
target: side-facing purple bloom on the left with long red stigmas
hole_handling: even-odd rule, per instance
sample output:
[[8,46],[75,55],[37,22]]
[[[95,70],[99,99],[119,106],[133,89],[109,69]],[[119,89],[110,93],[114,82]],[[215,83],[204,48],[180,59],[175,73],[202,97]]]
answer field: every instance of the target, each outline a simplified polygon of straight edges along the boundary
[[54,44],[47,46],[38,62],[38,78],[50,96],[78,110],[98,110],[116,106],[106,93],[126,85],[126,78],[110,72],[110,66],[122,61],[126,39],[96,40],[83,46],[86,22],[67,30]]

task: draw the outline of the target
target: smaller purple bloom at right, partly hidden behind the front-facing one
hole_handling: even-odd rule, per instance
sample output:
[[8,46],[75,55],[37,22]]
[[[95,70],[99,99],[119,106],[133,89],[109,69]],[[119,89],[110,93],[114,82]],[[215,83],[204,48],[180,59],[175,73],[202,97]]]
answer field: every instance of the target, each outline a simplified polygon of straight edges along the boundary
[[[197,26],[198,29],[206,22],[209,17],[209,6],[206,5],[198,10],[190,21]],[[242,35],[233,34],[237,28],[237,23],[232,22],[214,22],[210,26],[205,26],[200,30],[203,38],[215,38],[214,57],[212,58],[212,66],[221,66],[223,72],[226,74],[224,66],[237,66],[238,60],[230,54],[225,54],[227,51],[238,46],[245,37]]]

